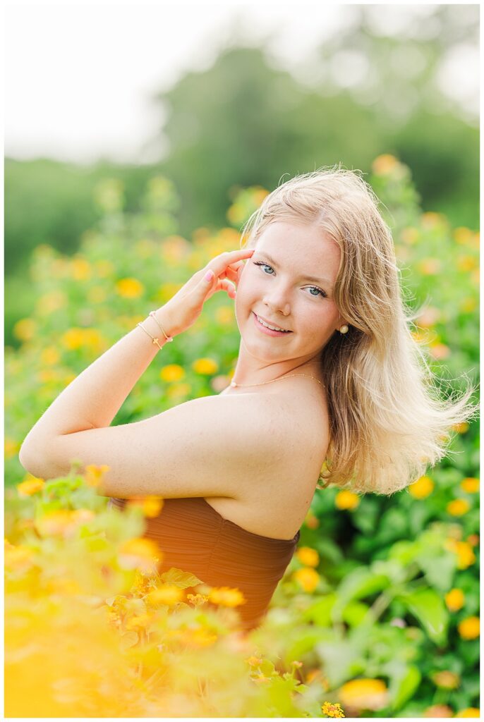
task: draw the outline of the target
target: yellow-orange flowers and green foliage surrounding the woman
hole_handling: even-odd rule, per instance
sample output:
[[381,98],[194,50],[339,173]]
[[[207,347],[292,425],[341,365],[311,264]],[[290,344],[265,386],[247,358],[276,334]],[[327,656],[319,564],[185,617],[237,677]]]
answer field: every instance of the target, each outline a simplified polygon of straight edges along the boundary
[[[442,393],[464,373],[477,381],[478,233],[421,212],[393,156],[375,160],[370,181]],[[142,534],[163,500],[121,512],[97,492],[103,467],[79,474],[74,463],[45,481],[20,465],[22,440],[62,389],[209,258],[238,248],[266,192],[241,191],[227,227],[187,240],[168,179],[152,178],[137,214],[106,180],[103,219],[79,252],[34,252],[35,310],[5,357],[6,716],[479,716],[477,422],[455,427],[451,456],[390,498],[316,491],[267,619],[249,635],[237,629],[240,591],[190,570],[157,573],[160,552]],[[113,424],[222,391],[239,338],[233,301],[214,295]]]

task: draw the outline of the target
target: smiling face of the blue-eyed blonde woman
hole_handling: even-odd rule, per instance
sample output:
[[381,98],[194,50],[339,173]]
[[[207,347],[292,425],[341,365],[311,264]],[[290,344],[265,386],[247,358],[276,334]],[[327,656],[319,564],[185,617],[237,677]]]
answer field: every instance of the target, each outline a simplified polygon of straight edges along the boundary
[[[235,297],[246,349],[268,362],[314,357],[345,323],[333,300],[340,248],[321,230],[289,222],[269,225],[255,248]],[[267,334],[255,315],[290,333]]]

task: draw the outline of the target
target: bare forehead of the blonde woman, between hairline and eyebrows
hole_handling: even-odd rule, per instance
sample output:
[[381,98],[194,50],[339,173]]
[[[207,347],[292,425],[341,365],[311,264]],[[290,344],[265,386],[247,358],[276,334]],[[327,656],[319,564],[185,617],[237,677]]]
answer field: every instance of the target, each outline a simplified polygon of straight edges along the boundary
[[[289,222],[271,223],[256,242],[256,253],[267,251],[284,268],[317,275],[334,281],[340,267],[337,243],[320,228]],[[254,256],[256,255],[254,253]]]

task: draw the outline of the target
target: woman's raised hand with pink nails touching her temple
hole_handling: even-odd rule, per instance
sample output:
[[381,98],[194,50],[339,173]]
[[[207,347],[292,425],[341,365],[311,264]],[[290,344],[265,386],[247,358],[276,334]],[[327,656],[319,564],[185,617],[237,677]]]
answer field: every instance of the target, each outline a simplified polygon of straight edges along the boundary
[[[250,258],[254,248],[241,248],[238,251],[225,251],[215,256],[201,271],[191,277],[168,303],[157,313],[160,321],[165,318],[166,332],[170,336],[178,336],[192,326],[202,313],[207,299],[217,291],[226,291],[230,298],[235,298],[235,289],[243,270],[243,261]],[[207,274],[212,276],[207,278]],[[235,288],[234,288],[235,285]]]

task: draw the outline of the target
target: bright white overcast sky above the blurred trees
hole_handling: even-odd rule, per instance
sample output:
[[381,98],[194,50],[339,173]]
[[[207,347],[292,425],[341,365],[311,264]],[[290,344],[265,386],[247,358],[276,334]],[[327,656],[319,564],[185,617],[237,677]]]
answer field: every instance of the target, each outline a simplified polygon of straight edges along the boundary
[[[156,149],[142,150],[163,120],[150,97],[185,71],[209,67],[230,44],[234,23],[246,43],[262,41],[277,64],[293,70],[351,22],[353,7],[237,0],[11,4],[5,11],[5,155],[157,160]],[[431,6],[377,7],[375,22],[397,30],[409,13],[431,12]],[[477,62],[469,49],[448,58],[441,75],[449,92],[470,108],[474,102],[477,113]]]

